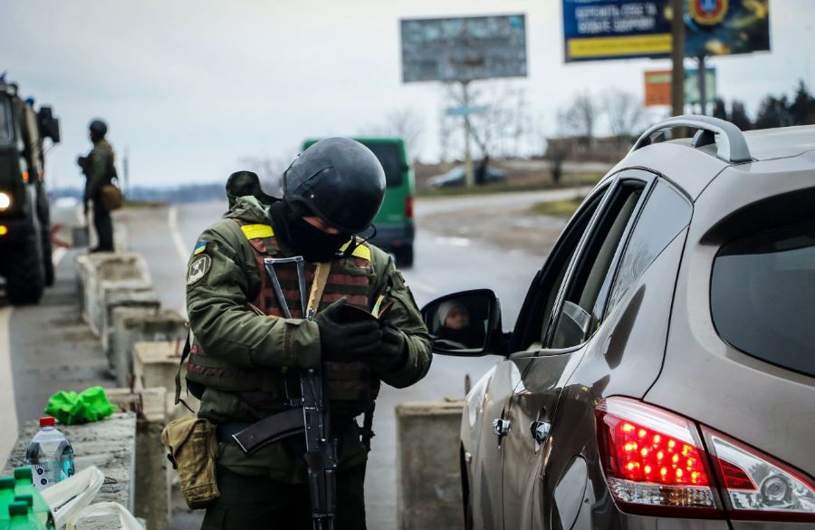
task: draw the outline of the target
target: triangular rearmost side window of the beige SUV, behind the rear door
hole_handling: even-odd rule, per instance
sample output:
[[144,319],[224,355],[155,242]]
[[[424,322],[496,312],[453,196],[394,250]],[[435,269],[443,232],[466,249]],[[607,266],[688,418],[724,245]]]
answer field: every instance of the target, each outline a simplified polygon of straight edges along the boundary
[[692,214],[693,207],[685,196],[665,181],[657,181],[628,238],[617,278],[611,287],[607,314],[674,237],[690,224]]

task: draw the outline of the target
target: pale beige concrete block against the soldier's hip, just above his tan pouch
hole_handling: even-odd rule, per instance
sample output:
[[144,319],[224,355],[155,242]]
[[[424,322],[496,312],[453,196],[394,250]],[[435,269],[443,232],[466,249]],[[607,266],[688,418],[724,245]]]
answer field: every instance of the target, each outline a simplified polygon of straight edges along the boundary
[[[183,341],[136,342],[133,345],[135,388],[166,388],[168,390],[166,405],[168,421],[190,413],[184,406],[176,407],[175,404],[176,374],[183,347]],[[198,400],[191,395],[187,396],[186,375],[187,367],[185,366],[181,370],[181,397],[190,409],[198,410]]]

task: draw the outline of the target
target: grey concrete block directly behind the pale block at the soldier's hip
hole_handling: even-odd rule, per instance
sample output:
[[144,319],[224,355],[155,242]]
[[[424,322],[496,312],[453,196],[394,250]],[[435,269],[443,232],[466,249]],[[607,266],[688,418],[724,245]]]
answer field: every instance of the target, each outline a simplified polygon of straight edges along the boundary
[[155,313],[143,308],[115,307],[112,330],[109,351],[120,387],[129,386],[129,376],[133,374],[133,345],[136,342],[175,342],[187,338],[184,317],[169,309]]

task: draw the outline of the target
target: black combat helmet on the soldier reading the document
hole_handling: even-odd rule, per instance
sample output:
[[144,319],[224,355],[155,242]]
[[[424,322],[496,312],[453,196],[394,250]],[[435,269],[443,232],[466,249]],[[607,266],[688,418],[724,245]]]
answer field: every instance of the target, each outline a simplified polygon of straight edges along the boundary
[[283,197],[346,234],[359,234],[385,198],[385,170],[370,149],[348,138],[320,140],[283,173]]

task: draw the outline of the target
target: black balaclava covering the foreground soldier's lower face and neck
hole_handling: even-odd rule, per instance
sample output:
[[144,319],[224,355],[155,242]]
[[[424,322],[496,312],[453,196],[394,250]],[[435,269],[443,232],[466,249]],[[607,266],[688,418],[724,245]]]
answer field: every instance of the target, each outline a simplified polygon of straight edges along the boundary
[[350,241],[350,234],[328,234],[310,225],[302,217],[314,214],[300,204],[292,205],[286,198],[275,202],[270,214],[275,234],[283,237],[283,243],[291,246],[308,262],[331,261],[340,251],[340,246]]

